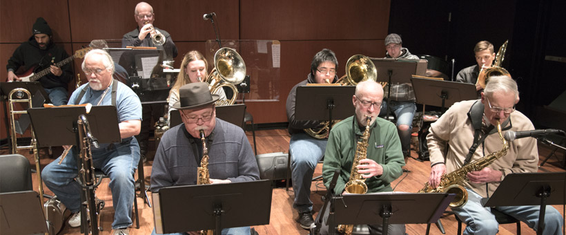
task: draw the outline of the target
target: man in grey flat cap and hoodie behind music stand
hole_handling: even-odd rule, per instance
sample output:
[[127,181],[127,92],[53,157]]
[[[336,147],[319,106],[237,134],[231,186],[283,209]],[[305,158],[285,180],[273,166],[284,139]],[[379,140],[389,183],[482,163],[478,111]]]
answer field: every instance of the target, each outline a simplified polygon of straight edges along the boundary
[[[418,56],[411,55],[409,49],[402,46],[401,36],[391,33],[385,37],[385,58],[394,59],[418,59]],[[387,97],[387,95],[386,95]],[[388,103],[389,102],[389,103]],[[413,129],[413,116],[417,110],[415,104],[415,91],[411,83],[391,84],[391,94],[389,100],[385,99],[381,106],[382,116],[387,115],[387,105],[391,106],[391,111],[397,117],[397,131],[401,140],[403,156],[410,156],[411,150],[411,131]]]

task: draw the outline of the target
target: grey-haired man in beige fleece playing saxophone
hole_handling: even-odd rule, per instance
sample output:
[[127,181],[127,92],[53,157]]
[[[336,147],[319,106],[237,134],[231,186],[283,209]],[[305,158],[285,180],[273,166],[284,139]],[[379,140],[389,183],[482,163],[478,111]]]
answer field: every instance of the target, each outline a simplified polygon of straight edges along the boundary
[[[458,102],[438,121],[431,124],[427,142],[431,160],[429,185],[438,187],[440,178],[475,160],[502,151],[502,140],[494,127],[502,130],[527,131],[533,124],[515,110],[518,90],[516,82],[507,76],[491,77],[480,100]],[[476,128],[474,128],[476,124]],[[534,138],[522,138],[509,143],[509,150],[489,166],[466,174],[462,183],[468,200],[452,211],[467,224],[464,234],[496,234],[498,223],[491,208],[482,207],[481,198],[489,197],[509,173],[537,172],[538,149]],[[477,149],[472,148],[477,144]],[[523,221],[536,229],[540,206],[494,207],[503,214]],[[562,218],[554,207],[547,206],[543,234],[562,234]]]

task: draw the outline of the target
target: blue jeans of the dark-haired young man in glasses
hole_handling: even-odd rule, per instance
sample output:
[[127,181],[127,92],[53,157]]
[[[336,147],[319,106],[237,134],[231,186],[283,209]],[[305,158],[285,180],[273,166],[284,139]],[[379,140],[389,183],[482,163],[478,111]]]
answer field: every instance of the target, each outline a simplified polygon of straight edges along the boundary
[[291,174],[293,191],[295,192],[293,208],[297,209],[299,213],[311,212],[313,209],[311,180],[316,164],[324,156],[326,142],[328,140],[315,139],[306,133],[291,135],[289,154],[291,154]]

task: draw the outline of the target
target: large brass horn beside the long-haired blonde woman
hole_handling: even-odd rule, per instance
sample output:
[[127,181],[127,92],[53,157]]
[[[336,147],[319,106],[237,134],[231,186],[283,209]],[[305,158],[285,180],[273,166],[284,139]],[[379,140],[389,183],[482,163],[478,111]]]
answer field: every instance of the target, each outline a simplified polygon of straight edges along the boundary
[[214,68],[204,82],[208,83],[211,94],[217,93],[224,86],[233,92],[231,99],[218,100],[217,106],[232,105],[238,94],[235,85],[242,83],[246,77],[246,64],[244,59],[232,48],[220,48],[214,55]]

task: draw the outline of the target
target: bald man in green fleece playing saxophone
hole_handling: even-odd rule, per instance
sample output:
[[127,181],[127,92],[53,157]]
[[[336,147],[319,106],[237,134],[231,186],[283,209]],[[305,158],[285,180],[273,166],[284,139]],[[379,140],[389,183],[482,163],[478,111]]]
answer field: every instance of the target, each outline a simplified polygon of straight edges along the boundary
[[[357,150],[355,143],[362,141],[361,137],[367,126],[366,116],[371,117],[367,156],[355,167],[365,179],[367,193],[393,191],[390,183],[402,174],[404,159],[396,127],[391,122],[378,118],[382,99],[383,89],[380,84],[373,80],[358,83],[352,97],[355,115],[335,124],[330,133],[324,153],[322,178],[326,188],[329,188],[334,171],[340,169],[340,177],[334,188],[335,195],[348,194],[344,187],[350,178]],[[329,209],[326,209],[321,234],[329,233],[326,224],[328,212]],[[382,234],[381,225],[368,226],[371,234]],[[389,234],[405,234],[404,225],[389,225],[388,229]]]

